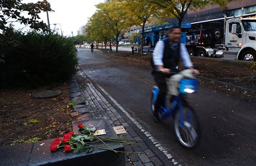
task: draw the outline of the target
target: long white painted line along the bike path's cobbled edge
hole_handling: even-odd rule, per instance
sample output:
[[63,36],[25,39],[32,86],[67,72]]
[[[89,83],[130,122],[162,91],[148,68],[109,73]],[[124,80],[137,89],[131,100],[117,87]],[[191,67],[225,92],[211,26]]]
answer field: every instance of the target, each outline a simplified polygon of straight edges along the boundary
[[[86,74],[85,71],[79,71],[79,74],[80,74],[81,76],[87,76],[88,78],[90,78],[90,79],[92,80],[92,78],[91,78],[88,74]],[[139,128],[139,129],[140,129],[140,131],[141,131],[142,133],[144,133],[147,138],[150,139],[150,141],[155,145],[155,147],[157,147],[157,149],[159,149],[162,153],[164,153],[164,155],[165,155],[168,159],[171,159],[171,162],[172,162],[174,165],[179,165],[179,166],[181,166],[181,164],[179,164],[179,163],[177,162],[177,160],[174,159],[173,155],[171,155],[171,154],[167,151],[167,149],[165,149],[164,146],[162,146],[161,143],[159,143],[159,142],[157,141],[157,139],[155,139],[148,131],[146,131],[146,130],[140,125],[140,123],[137,122],[137,121],[135,120],[135,118],[133,118],[133,117],[130,115],[129,112],[127,112],[127,111],[126,111],[112,96],[110,96],[110,94],[109,94],[108,92],[106,92],[99,84],[97,84],[96,82],[95,82],[95,84],[100,88],[100,90],[101,90],[102,92],[104,92],[104,94],[105,94],[107,97],[110,98],[110,100],[111,100],[112,102],[115,103],[115,105],[116,105],[117,107],[119,107],[119,109],[120,109],[120,110],[121,110],[121,111]],[[93,86],[93,85],[92,85],[92,86]],[[93,89],[95,89],[94,86],[93,86]],[[95,89],[95,91],[97,91],[97,89]]]

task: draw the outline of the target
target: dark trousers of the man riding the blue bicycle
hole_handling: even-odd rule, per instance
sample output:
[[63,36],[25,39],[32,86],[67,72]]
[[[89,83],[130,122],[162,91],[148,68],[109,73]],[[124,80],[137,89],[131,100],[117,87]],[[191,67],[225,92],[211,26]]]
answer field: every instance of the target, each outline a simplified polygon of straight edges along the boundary
[[154,76],[156,85],[159,88],[159,94],[155,103],[154,112],[154,115],[157,115],[157,111],[159,110],[159,108],[161,106],[164,106],[165,96],[167,94],[166,78],[170,77],[170,75],[164,74],[163,72],[159,71],[154,71],[152,75]]

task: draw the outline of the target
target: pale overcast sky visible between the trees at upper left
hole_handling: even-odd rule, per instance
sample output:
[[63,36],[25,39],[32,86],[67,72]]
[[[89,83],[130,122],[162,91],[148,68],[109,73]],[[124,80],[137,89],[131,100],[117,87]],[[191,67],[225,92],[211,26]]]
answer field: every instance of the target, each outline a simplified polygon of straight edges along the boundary
[[[23,0],[23,3],[37,2],[43,0]],[[56,28],[61,28],[63,35],[77,35],[77,30],[81,25],[85,25],[88,18],[96,12],[96,4],[104,2],[104,0],[47,0],[51,4],[51,8],[55,12],[49,12],[50,24],[57,24]],[[40,14],[42,20],[47,24],[46,12]],[[16,26],[17,27],[17,26]],[[19,25],[18,28],[23,28]],[[51,25],[51,29],[54,25]],[[59,32],[60,33],[60,32]]]

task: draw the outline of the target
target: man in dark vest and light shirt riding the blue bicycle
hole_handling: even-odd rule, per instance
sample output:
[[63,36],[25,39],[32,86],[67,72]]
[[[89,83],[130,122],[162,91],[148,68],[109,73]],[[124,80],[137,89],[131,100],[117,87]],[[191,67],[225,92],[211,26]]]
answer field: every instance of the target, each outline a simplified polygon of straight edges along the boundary
[[153,52],[154,71],[152,75],[159,88],[159,95],[154,108],[155,122],[159,122],[158,110],[164,105],[167,93],[166,78],[170,77],[173,72],[179,72],[179,60],[181,59],[184,68],[191,69],[195,74],[199,74],[199,71],[193,68],[185,44],[180,43],[180,33],[181,29],[179,27],[172,26],[168,32],[168,38],[157,42]]

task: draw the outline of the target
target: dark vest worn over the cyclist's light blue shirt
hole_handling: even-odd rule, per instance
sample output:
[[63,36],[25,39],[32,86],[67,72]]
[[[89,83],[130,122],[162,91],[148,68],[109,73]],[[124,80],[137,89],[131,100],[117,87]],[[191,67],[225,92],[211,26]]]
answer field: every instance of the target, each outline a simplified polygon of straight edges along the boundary
[[180,43],[176,46],[171,46],[169,43],[169,38],[163,40],[164,42],[164,56],[163,63],[164,68],[177,70],[176,66],[179,65],[180,59]]

